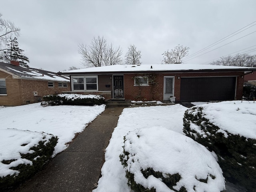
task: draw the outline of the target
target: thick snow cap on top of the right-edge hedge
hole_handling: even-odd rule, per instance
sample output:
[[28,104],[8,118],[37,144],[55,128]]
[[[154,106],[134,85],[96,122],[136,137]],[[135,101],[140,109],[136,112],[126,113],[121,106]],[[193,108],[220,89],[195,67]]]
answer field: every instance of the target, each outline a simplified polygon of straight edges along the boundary
[[228,131],[256,139],[256,103],[253,101],[225,101],[200,106],[203,108],[202,116],[224,134]]

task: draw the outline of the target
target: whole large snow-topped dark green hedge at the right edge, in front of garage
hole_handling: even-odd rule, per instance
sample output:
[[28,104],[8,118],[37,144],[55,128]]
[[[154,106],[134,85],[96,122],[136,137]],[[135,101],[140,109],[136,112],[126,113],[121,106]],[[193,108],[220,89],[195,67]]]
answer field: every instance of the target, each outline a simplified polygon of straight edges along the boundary
[[204,104],[186,110],[183,132],[214,151],[226,180],[255,191],[256,104]]

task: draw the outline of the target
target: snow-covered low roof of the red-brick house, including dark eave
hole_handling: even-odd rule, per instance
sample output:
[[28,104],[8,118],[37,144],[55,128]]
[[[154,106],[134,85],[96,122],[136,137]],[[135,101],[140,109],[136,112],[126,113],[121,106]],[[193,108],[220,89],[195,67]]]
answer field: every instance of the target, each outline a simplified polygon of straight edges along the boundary
[[218,72],[256,70],[252,67],[201,65],[201,64],[154,64],[154,65],[111,65],[78,70],[62,71],[60,74],[107,74],[107,73],[152,73],[152,72]]

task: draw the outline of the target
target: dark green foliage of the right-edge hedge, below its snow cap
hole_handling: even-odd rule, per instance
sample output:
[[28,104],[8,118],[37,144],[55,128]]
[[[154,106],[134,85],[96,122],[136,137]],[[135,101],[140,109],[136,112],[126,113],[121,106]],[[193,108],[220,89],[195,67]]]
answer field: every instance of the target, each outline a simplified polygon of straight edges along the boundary
[[216,153],[226,180],[255,191],[256,140],[231,134],[212,124],[205,118],[203,109],[202,106],[195,106],[186,110],[183,132]]

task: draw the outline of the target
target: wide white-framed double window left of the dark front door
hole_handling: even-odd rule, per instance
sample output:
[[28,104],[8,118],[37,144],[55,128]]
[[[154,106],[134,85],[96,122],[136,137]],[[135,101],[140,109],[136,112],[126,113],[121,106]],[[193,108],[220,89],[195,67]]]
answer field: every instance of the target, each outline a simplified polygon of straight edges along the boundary
[[98,76],[76,76],[72,77],[73,90],[90,91],[98,90]]

